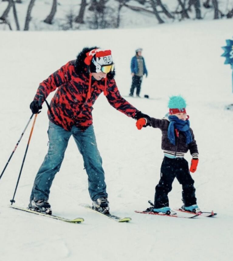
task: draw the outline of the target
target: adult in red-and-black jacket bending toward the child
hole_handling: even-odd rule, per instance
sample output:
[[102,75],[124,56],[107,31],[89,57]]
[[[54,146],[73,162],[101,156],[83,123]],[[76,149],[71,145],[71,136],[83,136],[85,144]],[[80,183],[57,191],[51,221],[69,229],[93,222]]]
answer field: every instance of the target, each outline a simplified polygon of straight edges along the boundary
[[109,213],[105,174],[92,125],[92,106],[103,92],[111,106],[128,117],[149,118],[121,97],[114,76],[111,50],[91,47],[84,48],[76,60],[69,61],[39,84],[30,104],[34,114],[42,109],[49,93],[57,91],[48,110],[49,149],[36,174],[29,209],[52,214],[48,202],[50,187],[72,135],[83,156],[93,208]]

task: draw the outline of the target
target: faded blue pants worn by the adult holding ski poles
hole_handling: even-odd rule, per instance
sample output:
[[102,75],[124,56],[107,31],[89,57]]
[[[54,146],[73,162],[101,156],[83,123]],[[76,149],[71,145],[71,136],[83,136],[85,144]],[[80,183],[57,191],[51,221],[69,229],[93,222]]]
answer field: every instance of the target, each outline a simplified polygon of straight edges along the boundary
[[49,150],[36,175],[30,201],[46,199],[50,194],[55,174],[59,171],[70,136],[73,135],[78,150],[83,156],[84,168],[88,175],[88,191],[92,200],[108,197],[102,159],[97,148],[94,128],[85,131],[73,126],[71,131],[49,122]]

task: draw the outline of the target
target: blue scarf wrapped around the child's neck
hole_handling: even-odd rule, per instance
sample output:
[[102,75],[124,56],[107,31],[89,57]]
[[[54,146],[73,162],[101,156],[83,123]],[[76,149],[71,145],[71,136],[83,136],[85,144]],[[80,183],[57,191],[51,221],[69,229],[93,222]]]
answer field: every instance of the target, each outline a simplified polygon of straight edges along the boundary
[[193,141],[189,126],[190,122],[189,120],[179,120],[178,117],[175,115],[168,116],[168,119],[170,120],[170,124],[168,126],[168,139],[169,141],[175,145],[175,129],[178,131],[183,131],[185,137],[186,137],[186,144],[189,144]]

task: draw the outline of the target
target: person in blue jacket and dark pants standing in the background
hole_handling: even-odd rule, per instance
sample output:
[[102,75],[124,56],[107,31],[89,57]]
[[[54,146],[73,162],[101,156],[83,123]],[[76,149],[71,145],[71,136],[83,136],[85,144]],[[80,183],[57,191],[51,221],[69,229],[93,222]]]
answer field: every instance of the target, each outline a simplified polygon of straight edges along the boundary
[[142,56],[142,48],[135,50],[136,54],[131,59],[131,75],[132,75],[132,85],[130,88],[129,96],[133,96],[134,89],[136,88],[136,97],[140,97],[142,76],[148,75],[145,60]]

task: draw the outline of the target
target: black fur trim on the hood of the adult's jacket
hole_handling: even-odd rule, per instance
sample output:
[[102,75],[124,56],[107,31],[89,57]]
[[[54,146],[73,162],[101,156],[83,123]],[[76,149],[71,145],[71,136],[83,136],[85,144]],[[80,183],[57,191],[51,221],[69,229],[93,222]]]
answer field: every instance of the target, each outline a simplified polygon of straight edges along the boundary
[[[100,47],[98,47],[98,46],[84,47],[82,49],[82,51],[77,55],[77,58],[76,58],[76,61],[74,64],[76,73],[84,73],[87,76],[89,75],[88,70],[87,70],[88,66],[84,63],[84,59],[86,58],[86,53],[88,53],[91,50],[96,49],[96,48],[100,48]],[[107,74],[107,78],[110,80],[113,79],[114,76],[115,76],[115,69],[112,72],[109,72]]]

